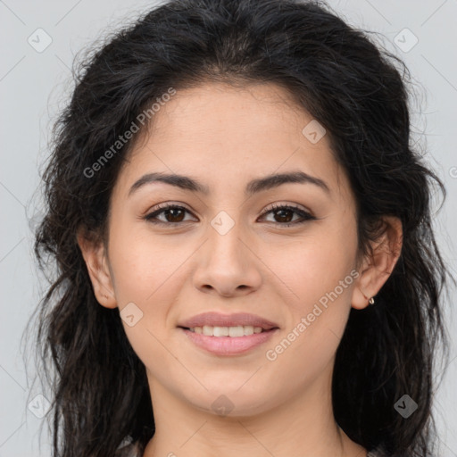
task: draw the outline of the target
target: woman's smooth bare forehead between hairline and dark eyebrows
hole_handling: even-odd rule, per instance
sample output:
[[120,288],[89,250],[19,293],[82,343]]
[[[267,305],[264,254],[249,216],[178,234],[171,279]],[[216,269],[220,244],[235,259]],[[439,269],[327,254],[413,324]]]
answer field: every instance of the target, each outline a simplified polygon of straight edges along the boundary
[[[211,192],[218,183],[233,187],[274,171],[303,170],[339,187],[339,166],[316,122],[273,84],[178,90],[138,134],[118,184],[127,187],[150,171],[191,172]],[[310,129],[321,136],[318,141],[310,140]]]

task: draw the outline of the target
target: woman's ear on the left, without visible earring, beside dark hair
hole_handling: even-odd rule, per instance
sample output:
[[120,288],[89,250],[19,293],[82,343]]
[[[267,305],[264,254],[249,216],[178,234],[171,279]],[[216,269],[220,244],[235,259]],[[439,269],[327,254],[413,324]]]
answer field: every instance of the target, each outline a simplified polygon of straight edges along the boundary
[[77,240],[97,302],[105,308],[116,308],[112,273],[108,266],[104,243],[82,229],[78,231]]

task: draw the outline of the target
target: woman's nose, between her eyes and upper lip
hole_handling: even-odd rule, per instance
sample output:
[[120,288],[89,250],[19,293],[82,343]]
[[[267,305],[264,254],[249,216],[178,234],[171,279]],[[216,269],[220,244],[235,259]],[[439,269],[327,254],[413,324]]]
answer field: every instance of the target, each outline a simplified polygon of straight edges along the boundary
[[208,239],[199,250],[194,285],[204,293],[225,297],[248,295],[262,283],[262,262],[235,224],[227,233],[210,227]]

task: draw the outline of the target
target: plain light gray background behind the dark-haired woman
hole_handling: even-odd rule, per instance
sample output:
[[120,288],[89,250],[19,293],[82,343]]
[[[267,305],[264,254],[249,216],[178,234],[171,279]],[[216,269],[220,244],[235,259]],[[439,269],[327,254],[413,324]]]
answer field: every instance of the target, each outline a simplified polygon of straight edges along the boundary
[[[418,95],[411,112],[413,131],[417,132],[416,139],[428,146],[428,162],[445,181],[448,191],[446,203],[436,216],[436,233],[455,275],[457,0],[328,3],[346,21],[383,34],[385,45],[400,55],[411,70]],[[31,197],[39,184],[38,170],[48,154],[52,122],[71,92],[73,57],[103,36],[105,28],[117,29],[154,4],[140,0],[0,0],[0,457],[51,455],[46,425],[41,439],[38,433],[45,419],[37,415],[46,411],[46,402],[40,397],[35,399],[46,393],[37,381],[33,382],[36,374],[31,359],[23,362],[21,335],[46,286],[31,257],[30,227],[40,212],[39,198]],[[43,32],[35,32],[39,28],[52,38],[51,45],[40,53],[28,42],[31,36],[36,46],[46,43]],[[408,31],[402,32],[404,28],[419,40],[411,50],[407,48],[414,37]],[[42,34],[40,44],[37,33]],[[403,41],[403,50],[395,46],[397,36]],[[454,293],[452,289],[450,295],[453,297]],[[445,312],[453,337],[457,323],[450,303]],[[447,374],[436,394],[439,455],[444,457],[457,456],[456,341],[453,337]]]

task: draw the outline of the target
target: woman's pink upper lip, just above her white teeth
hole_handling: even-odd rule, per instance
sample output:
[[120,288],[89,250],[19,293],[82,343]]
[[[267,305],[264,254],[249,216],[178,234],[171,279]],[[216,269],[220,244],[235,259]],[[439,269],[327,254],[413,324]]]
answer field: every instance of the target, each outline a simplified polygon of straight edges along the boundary
[[247,312],[236,312],[234,314],[221,314],[220,312],[203,312],[196,316],[184,320],[178,324],[178,327],[195,328],[204,327],[237,327],[252,325],[253,327],[262,327],[264,330],[278,328],[278,324],[270,320],[263,319],[255,314]]

